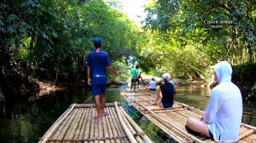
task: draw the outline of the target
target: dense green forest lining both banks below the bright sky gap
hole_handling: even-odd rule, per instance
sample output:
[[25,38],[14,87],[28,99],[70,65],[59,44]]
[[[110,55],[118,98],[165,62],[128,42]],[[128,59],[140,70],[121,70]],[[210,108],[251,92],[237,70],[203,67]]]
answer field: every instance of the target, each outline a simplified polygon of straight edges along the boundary
[[145,6],[141,26],[120,7],[115,0],[1,1],[5,98],[38,92],[38,81],[86,81],[84,61],[94,37],[102,37],[103,49],[121,72],[110,79],[127,80],[137,65],[148,74],[206,80],[209,66],[228,60],[234,81],[255,96],[250,91],[256,79],[255,0],[154,0]]

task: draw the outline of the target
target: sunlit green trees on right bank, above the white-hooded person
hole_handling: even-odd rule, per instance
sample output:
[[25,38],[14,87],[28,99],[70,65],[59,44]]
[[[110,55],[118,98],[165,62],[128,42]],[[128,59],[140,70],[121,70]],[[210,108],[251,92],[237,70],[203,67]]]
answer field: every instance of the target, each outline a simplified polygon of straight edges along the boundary
[[143,28],[154,35],[150,53],[161,60],[152,60],[157,69],[198,78],[218,60],[256,62],[254,1],[157,0],[145,10]]

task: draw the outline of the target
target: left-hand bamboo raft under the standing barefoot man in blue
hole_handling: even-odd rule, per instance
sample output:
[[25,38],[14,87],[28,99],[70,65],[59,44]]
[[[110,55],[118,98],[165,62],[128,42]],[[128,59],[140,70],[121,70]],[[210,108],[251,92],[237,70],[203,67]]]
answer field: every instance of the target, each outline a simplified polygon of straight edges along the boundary
[[102,121],[95,121],[95,104],[73,104],[38,142],[152,142],[117,102],[107,103],[105,109],[109,115],[102,117]]

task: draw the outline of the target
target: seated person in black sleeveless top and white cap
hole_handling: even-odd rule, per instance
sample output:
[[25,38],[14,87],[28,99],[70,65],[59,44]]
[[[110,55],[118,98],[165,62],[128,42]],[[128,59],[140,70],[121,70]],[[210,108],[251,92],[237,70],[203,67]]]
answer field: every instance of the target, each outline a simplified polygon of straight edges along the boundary
[[156,99],[154,100],[154,106],[158,105],[162,108],[169,108],[173,106],[174,87],[170,83],[170,74],[165,73],[163,75],[163,81],[160,85],[160,89],[157,91]]

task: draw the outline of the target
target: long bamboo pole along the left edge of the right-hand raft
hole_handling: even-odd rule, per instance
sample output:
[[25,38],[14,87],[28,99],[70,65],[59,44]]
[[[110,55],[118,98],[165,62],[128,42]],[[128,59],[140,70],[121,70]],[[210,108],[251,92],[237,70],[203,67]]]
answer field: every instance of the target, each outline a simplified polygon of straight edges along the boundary
[[[132,99],[131,99],[131,100],[132,100]],[[136,101],[136,100],[135,100],[135,101]],[[180,125],[175,124],[175,123],[167,122],[166,120],[164,120],[164,119],[158,117],[154,112],[152,112],[151,110],[149,110],[148,107],[144,106],[144,105],[141,104],[140,102],[137,102],[137,104],[139,104],[140,106],[143,106],[145,109],[147,109],[148,112],[150,112],[152,116],[156,117],[157,119],[159,119],[160,121],[162,121],[162,122],[164,122],[164,123],[166,123],[166,124],[168,124],[168,125],[171,125],[173,128],[179,130],[179,131],[182,132],[183,134],[186,134],[186,135],[187,135],[189,138],[191,138],[192,140],[195,140],[195,141],[197,141],[197,142],[203,143],[202,140],[199,140],[199,139],[197,139],[195,136],[193,136],[193,135],[187,133],[186,131],[184,131],[184,129],[183,129],[182,127],[180,127]]]

